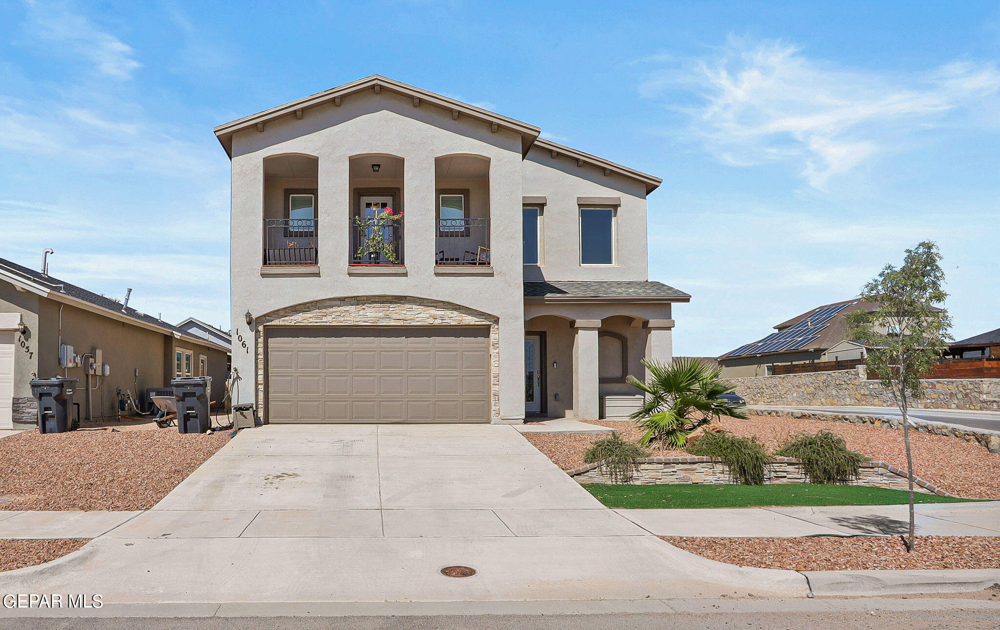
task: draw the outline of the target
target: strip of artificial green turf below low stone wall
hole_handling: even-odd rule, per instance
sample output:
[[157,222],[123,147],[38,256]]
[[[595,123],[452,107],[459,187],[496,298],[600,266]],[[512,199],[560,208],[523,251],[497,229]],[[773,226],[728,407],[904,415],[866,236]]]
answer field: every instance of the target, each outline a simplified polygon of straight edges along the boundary
[[[583,484],[611,508],[714,508],[787,505],[899,505],[909,502],[905,490],[865,486],[784,483],[740,485],[605,485]],[[957,503],[970,499],[914,494],[916,503]]]

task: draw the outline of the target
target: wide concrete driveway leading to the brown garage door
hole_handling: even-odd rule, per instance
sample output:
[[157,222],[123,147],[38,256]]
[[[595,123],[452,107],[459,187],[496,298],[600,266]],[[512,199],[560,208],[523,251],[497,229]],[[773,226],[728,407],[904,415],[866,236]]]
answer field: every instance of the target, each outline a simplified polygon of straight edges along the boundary
[[[469,578],[442,567],[475,568]],[[640,600],[805,595],[792,571],[676,549],[497,425],[242,431],[153,510],[0,574],[115,603]]]

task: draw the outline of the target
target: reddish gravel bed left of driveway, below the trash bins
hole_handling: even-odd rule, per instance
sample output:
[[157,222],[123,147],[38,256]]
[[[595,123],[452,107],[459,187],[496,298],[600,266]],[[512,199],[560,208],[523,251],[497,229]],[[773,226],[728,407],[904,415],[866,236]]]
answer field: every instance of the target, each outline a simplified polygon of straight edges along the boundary
[[0,440],[0,510],[148,510],[227,442],[176,428],[25,431]]

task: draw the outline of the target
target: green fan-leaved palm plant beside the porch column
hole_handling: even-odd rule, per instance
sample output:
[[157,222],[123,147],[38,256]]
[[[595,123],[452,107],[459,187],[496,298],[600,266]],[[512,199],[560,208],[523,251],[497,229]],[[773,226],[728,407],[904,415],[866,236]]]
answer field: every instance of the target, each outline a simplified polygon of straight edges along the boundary
[[744,405],[719,400],[735,387],[719,378],[722,368],[699,359],[677,359],[672,363],[644,360],[646,382],[634,376],[628,383],[645,392],[642,407],[630,418],[646,433],[639,444],[659,443],[682,449],[699,427],[718,421],[722,416],[746,418]]

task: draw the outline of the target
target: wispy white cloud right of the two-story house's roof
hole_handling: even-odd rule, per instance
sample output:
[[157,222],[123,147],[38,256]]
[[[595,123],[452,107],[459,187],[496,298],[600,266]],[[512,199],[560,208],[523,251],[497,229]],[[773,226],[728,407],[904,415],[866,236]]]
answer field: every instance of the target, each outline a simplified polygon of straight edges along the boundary
[[698,106],[682,111],[719,160],[788,163],[824,190],[831,178],[895,150],[907,133],[995,97],[1000,71],[954,62],[879,73],[811,59],[781,41],[733,37],[709,57],[653,73],[640,94],[673,99],[678,89],[697,95]]

